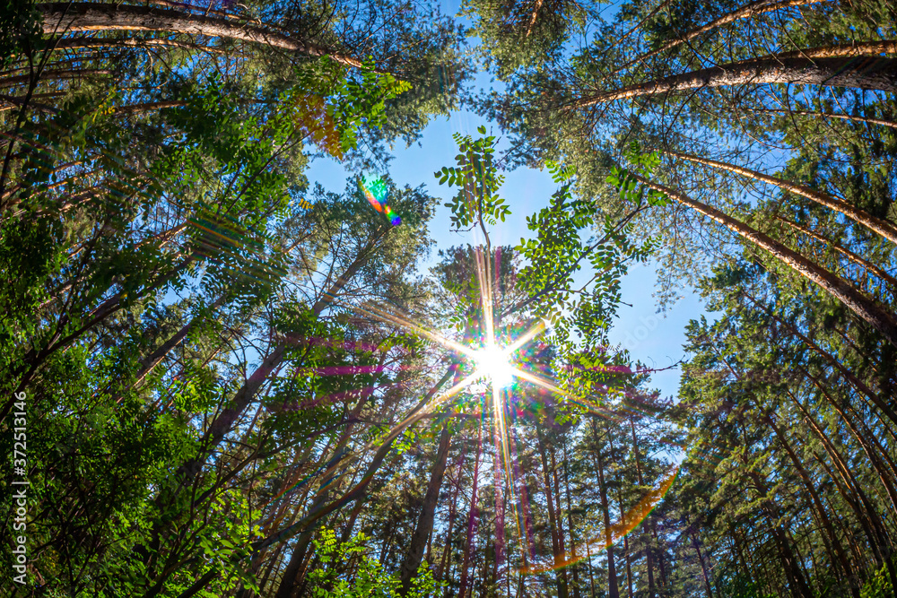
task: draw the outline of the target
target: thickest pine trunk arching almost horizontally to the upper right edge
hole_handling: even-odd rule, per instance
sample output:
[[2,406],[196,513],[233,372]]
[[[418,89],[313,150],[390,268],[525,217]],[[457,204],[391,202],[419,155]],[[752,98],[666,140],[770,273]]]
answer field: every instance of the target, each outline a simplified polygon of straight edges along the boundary
[[[808,51],[804,50],[797,54],[806,56]],[[880,56],[863,56],[859,59],[857,56],[838,58],[762,56],[606,91],[573,102],[570,108],[586,108],[613,100],[745,83],[752,85],[800,83],[893,92],[897,91],[897,59]]]

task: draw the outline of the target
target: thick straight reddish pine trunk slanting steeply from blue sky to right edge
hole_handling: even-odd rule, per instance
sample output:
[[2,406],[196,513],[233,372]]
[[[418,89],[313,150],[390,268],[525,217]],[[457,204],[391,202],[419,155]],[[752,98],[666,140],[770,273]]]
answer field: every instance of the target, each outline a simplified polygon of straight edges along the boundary
[[836,299],[839,299],[847,308],[881,333],[888,342],[897,347],[897,323],[894,322],[893,317],[880,308],[875,301],[863,295],[848,282],[785,247],[779,241],[770,238],[759,230],[754,230],[744,222],[738,221],[708,204],[695,201],[688,195],[678,193],[669,187],[652,183],[647,178],[643,178],[635,173],[631,173],[631,175],[640,183],[668,195],[696,212],[718,221],[727,229],[734,230],[757,247],[769,251],[779,262],[788,265],[788,267],[800,273],[809,281],[832,293]]

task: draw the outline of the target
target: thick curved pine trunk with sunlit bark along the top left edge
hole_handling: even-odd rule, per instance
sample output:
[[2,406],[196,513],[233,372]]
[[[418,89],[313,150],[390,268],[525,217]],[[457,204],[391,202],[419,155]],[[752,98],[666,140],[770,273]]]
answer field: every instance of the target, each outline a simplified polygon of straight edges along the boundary
[[170,31],[210,38],[240,39],[271,48],[281,48],[309,56],[330,56],[347,66],[361,66],[348,56],[331,53],[315,43],[294,39],[274,30],[225,21],[195,13],[124,4],[48,3],[36,4],[43,14],[45,35],[69,31]]

